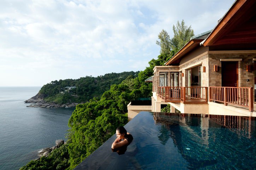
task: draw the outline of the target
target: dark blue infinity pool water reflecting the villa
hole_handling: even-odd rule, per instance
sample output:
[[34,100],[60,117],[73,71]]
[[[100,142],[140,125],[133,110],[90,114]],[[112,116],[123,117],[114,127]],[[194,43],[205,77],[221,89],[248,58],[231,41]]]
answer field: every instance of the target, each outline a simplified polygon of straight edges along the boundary
[[254,169],[254,117],[140,112],[133,142],[112,152],[114,134],[76,169]]

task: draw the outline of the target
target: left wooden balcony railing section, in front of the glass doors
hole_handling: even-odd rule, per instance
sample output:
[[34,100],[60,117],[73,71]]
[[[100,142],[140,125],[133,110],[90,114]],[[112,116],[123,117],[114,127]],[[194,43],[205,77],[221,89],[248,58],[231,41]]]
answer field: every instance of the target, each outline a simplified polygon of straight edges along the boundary
[[208,87],[158,87],[158,95],[165,100],[207,102]]

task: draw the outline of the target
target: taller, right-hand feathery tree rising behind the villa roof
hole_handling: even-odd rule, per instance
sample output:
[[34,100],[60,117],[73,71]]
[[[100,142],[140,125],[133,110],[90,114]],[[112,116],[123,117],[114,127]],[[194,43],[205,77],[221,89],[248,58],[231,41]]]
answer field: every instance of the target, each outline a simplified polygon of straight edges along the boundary
[[181,23],[177,21],[176,26],[173,25],[174,37],[171,39],[171,49],[174,50],[174,53],[178,52],[192,36],[194,36],[194,31],[191,29],[191,26],[187,27],[184,20],[182,19]]

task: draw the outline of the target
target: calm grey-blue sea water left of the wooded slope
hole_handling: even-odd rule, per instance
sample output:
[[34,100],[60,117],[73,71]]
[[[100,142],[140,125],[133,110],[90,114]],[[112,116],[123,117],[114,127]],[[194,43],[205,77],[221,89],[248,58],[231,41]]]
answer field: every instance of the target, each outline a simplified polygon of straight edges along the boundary
[[25,100],[41,87],[0,87],[0,169],[19,169],[37,152],[65,139],[74,108],[33,108]]

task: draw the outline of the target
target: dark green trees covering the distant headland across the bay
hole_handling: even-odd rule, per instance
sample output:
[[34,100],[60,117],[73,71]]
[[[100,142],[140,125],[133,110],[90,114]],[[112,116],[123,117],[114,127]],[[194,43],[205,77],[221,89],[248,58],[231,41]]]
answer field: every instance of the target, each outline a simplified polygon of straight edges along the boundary
[[[112,84],[120,84],[128,76],[138,76],[139,71],[110,73],[104,76],[86,76],[78,79],[55,80],[44,85],[39,96],[45,101],[65,103],[84,103],[93,97],[100,97]],[[76,86],[72,90],[65,90],[65,87]],[[67,92],[68,91],[68,92]]]

